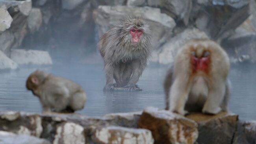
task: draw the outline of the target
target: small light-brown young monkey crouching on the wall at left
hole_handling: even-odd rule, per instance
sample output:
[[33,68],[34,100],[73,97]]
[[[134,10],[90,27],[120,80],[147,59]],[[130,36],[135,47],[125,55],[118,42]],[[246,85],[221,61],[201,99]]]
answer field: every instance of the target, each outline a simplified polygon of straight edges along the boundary
[[80,85],[41,70],[30,74],[26,87],[39,97],[43,112],[74,112],[83,109],[86,101]]

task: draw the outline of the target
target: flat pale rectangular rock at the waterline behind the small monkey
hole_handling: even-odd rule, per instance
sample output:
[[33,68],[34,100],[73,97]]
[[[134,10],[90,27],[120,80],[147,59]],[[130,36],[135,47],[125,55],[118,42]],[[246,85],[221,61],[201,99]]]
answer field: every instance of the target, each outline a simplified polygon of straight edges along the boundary
[[11,59],[19,65],[52,65],[52,58],[47,51],[13,49]]

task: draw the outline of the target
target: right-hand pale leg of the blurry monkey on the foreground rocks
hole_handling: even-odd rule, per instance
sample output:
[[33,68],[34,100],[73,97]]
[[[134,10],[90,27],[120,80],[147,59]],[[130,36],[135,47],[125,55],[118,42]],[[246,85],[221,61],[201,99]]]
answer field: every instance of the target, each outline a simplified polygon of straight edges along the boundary
[[225,93],[225,83],[223,82],[217,83],[214,85],[209,91],[206,102],[204,103],[203,113],[217,114],[221,111],[220,105],[224,99]]

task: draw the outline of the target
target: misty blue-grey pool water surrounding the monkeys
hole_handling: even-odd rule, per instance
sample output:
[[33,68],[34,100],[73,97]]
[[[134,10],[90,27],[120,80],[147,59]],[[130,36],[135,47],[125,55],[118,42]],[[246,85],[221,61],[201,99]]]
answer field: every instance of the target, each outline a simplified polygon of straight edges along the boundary
[[[164,108],[163,79],[167,67],[148,67],[138,85],[143,92],[106,92],[103,65],[55,65],[40,68],[80,84],[87,93],[87,102],[79,113],[102,116],[113,112],[143,110],[146,106]],[[27,76],[35,68],[0,73],[0,110],[41,112],[39,99],[25,88]],[[256,120],[256,67],[232,66],[230,110],[240,119]]]

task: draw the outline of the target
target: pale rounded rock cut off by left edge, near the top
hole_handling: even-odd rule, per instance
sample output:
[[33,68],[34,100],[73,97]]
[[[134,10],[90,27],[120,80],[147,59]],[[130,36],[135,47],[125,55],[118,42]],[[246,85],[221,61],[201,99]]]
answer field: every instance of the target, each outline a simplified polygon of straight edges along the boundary
[[0,33],[9,29],[9,27],[11,27],[11,22],[13,22],[13,18],[11,18],[8,11],[0,8]]

